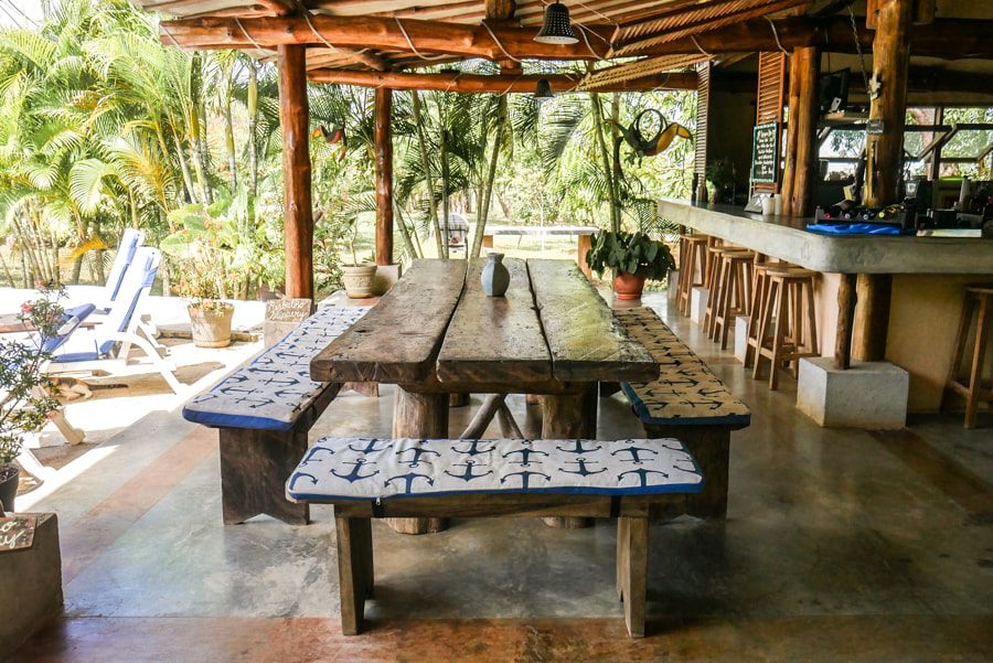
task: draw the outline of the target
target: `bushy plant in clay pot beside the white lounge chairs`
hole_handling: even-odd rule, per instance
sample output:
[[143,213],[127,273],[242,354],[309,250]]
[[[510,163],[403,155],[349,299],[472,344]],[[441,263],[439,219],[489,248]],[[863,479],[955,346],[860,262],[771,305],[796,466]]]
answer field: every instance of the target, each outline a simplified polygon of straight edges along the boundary
[[[190,300],[190,327],[197,347],[231,344],[234,304],[226,301],[241,285],[236,258],[237,228],[233,221],[215,216],[216,207],[186,205],[169,220],[182,229],[166,237],[160,248],[170,258],[173,291]],[[214,214],[212,214],[214,213]]]

